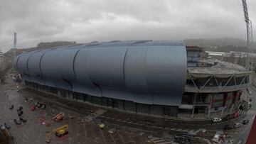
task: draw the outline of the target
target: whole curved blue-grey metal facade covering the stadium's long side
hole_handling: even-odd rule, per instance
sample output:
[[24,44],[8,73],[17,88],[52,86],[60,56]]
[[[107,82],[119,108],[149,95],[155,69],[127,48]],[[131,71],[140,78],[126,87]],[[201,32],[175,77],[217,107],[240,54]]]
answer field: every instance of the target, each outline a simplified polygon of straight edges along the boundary
[[28,82],[141,104],[178,106],[186,84],[186,47],[169,41],[74,45],[18,55]]

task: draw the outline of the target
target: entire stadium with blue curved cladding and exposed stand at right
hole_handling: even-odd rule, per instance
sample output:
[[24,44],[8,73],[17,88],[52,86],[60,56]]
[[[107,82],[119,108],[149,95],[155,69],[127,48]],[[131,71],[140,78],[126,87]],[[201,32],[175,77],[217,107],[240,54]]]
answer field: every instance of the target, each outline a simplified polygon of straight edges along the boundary
[[18,55],[32,89],[63,99],[149,116],[233,113],[251,71],[211,59],[204,48],[169,40],[88,43]]

